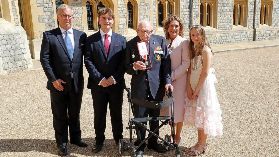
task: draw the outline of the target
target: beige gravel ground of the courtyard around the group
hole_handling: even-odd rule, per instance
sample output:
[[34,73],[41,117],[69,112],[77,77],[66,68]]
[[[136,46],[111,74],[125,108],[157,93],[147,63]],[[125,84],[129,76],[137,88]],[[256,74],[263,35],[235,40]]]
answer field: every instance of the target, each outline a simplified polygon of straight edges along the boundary
[[[216,53],[212,68],[219,81],[216,90],[221,104],[224,134],[209,137],[201,156],[279,156],[279,47]],[[84,67],[85,80],[88,73]],[[125,75],[129,85],[131,76]],[[42,70],[1,76],[1,156],[57,156],[52,126],[50,94]],[[87,81],[85,82],[87,86]],[[123,125],[127,126],[128,101],[124,92]],[[103,150],[93,153],[93,104],[89,89],[83,91],[80,124],[87,148],[67,145],[68,156],[119,156],[110,121]],[[109,120],[109,111],[107,113]],[[160,135],[169,134],[169,126]],[[128,130],[123,132],[127,141]],[[196,143],[193,127],[182,129],[182,156]],[[125,152],[125,156],[130,156]],[[174,150],[159,154],[146,149],[144,156],[175,156]]]

